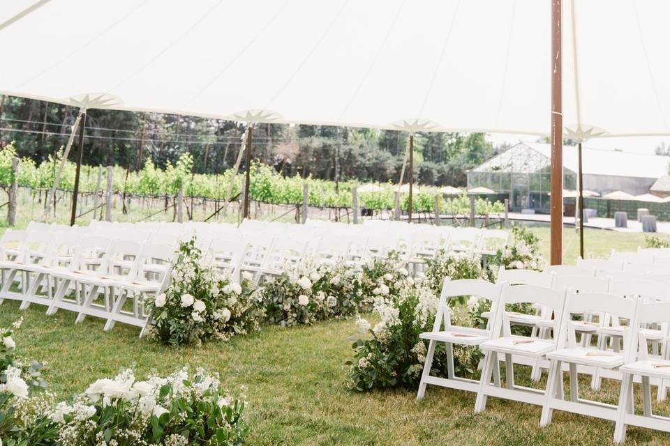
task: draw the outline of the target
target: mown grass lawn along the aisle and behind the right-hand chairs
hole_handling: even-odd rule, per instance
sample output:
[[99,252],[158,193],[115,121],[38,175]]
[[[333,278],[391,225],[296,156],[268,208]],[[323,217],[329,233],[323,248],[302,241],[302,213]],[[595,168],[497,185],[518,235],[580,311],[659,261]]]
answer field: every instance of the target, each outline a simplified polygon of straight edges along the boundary
[[[548,252],[549,229],[535,229]],[[634,249],[643,236],[587,231],[592,256],[610,249]],[[566,261],[578,252],[572,229],[565,231]],[[97,378],[135,367],[142,377],[168,374],[184,365],[221,373],[225,387],[248,387],[249,445],[608,445],[613,424],[556,413],[553,424],[539,428],[540,408],[489,399],[489,409],[474,415],[475,395],[429,387],[415,401],[412,390],[357,394],[346,390],[344,362],[352,355],[353,321],[329,321],[311,327],[262,331],[200,348],[166,348],[138,339],[138,330],[118,324],[103,332],[103,321],[88,317],[75,325],[75,314],[45,316],[31,305],[16,335],[18,353],[47,362],[45,378],[61,398],[81,392]],[[17,302],[0,305],[0,326],[20,314]],[[517,367],[517,382],[528,384],[528,369]],[[545,374],[546,376],[546,374]],[[544,383],[540,383],[543,385]],[[588,394],[588,380],[581,390]],[[618,383],[604,381],[604,401],[618,400]],[[639,406],[638,406],[639,407]],[[670,402],[655,406],[670,414]],[[629,429],[631,445],[668,445],[670,435]]]

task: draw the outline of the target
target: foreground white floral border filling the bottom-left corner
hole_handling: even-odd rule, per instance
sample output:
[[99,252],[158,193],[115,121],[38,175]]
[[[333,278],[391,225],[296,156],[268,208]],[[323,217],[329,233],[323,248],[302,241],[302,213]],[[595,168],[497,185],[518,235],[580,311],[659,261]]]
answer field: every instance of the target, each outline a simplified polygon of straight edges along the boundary
[[[4,446],[240,445],[248,433],[244,387],[221,388],[218,374],[197,369],[135,380],[131,369],[89,385],[73,401],[43,390],[41,364],[26,364],[3,330],[0,441]],[[36,367],[36,364],[39,367]]]

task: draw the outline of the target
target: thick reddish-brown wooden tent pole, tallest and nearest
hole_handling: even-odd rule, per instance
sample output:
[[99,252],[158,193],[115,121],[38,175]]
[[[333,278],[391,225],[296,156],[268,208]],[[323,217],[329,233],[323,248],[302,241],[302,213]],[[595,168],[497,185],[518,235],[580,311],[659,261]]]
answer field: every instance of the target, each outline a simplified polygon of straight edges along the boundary
[[563,263],[562,0],[551,0],[551,265]]

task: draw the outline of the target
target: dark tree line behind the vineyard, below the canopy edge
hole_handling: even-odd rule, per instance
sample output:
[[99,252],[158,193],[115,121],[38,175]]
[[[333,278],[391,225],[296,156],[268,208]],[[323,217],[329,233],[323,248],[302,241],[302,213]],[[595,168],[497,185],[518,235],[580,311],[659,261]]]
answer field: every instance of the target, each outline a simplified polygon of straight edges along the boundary
[[[37,164],[54,159],[77,113],[75,107],[53,102],[0,96],[0,148],[14,141],[20,157]],[[234,165],[245,131],[246,125],[221,119],[91,109],[83,162],[139,171],[151,160],[165,169],[189,153],[193,174],[216,174]],[[253,128],[254,159],[284,176],[397,182],[407,145],[408,134],[394,130],[285,124]],[[453,186],[466,185],[468,169],[502,150],[482,133],[421,132],[414,147],[415,181]]]

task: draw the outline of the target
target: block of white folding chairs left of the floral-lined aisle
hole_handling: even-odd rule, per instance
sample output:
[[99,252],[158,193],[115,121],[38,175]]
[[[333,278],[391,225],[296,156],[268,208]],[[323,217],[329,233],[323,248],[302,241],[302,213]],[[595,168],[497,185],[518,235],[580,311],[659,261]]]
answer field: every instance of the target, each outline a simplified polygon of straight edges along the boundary
[[[77,322],[87,315],[100,317],[106,321],[105,330],[115,322],[128,323],[141,327],[141,336],[150,317],[144,298],[169,286],[180,240],[196,236],[205,261],[236,281],[241,272],[251,273],[258,285],[263,277],[280,275],[287,266],[306,258],[356,266],[397,249],[408,266],[417,265],[435,256],[445,240],[452,240],[452,233],[475,233],[445,229],[426,235],[412,230],[410,236],[391,239],[369,226],[364,231],[348,231],[341,224],[325,224],[328,230],[314,226],[318,225],[251,222],[237,228],[202,223],[66,226],[31,222],[25,231],[8,229],[0,239],[0,302],[20,300],[22,309],[31,303],[46,305],[48,314],[68,309],[77,312]],[[408,226],[416,225],[403,228]],[[296,227],[311,229],[304,235]],[[507,232],[493,233],[489,240],[496,237],[506,242]],[[460,236],[453,240],[463,242]]]

